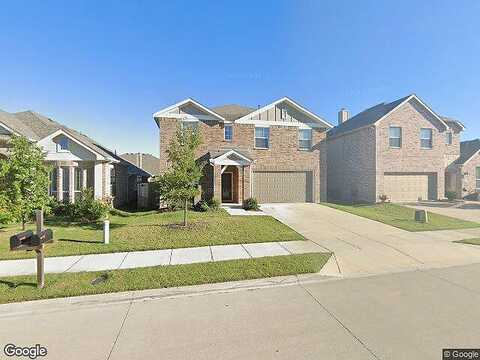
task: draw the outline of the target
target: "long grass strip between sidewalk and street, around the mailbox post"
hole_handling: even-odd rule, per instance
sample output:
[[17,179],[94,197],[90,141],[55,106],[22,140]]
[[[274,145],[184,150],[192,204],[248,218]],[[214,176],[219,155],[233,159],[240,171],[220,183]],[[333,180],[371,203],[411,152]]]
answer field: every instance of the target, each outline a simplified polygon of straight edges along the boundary
[[[35,276],[6,277],[0,279],[0,303],[315,273],[322,269],[330,255],[311,253],[109,272],[47,274],[43,289],[36,288]],[[92,280],[101,275],[107,279],[92,285]]]

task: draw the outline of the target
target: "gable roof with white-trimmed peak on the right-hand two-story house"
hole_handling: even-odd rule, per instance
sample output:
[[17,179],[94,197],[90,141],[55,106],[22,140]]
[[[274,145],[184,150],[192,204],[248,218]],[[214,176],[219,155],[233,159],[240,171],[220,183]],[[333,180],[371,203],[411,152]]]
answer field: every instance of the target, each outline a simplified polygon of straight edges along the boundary
[[417,95],[410,94],[398,100],[392,101],[390,103],[380,103],[371,108],[368,108],[352,118],[344,121],[342,124],[337,125],[328,132],[329,137],[338,136],[356,129],[363,128],[365,126],[376,124],[377,122],[384,119],[387,115],[391,114],[393,111],[398,109],[404,103],[415,99],[417,100],[428,112],[430,112],[445,128],[449,126],[445,121],[438,116],[430,107],[428,107]]

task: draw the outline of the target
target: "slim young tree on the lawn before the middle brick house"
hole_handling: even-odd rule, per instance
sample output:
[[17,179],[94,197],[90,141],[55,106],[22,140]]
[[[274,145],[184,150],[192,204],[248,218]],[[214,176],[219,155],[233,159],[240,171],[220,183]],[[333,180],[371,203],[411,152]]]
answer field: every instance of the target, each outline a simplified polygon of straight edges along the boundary
[[177,129],[167,150],[170,168],[156,180],[161,201],[183,205],[184,226],[187,225],[188,201],[199,194],[198,185],[205,166],[195,156],[201,143],[198,131]]

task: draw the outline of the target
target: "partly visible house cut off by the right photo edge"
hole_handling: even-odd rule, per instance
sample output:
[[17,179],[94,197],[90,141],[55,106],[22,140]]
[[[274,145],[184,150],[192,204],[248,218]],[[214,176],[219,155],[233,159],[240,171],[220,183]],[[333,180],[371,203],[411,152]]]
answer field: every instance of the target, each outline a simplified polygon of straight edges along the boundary
[[460,157],[450,166],[449,187],[458,197],[478,199],[480,193],[480,139],[462,141]]

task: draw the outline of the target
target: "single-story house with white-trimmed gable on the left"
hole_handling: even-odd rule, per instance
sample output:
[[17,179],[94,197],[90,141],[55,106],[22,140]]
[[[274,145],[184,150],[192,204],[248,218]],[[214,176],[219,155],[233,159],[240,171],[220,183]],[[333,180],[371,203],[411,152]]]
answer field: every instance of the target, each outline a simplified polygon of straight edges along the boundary
[[25,136],[45,151],[52,166],[49,193],[59,201],[74,202],[82,189],[91,188],[95,198],[123,206],[130,201],[129,176],[150,176],[88,136],[33,111],[0,110],[0,156],[8,156],[12,134]]

